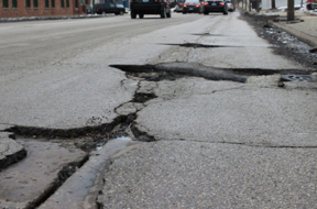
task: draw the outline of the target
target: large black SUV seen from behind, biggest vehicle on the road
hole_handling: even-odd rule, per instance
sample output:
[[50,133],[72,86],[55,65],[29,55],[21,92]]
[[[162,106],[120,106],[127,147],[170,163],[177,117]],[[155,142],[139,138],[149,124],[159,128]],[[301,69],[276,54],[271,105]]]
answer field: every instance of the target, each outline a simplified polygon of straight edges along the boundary
[[171,18],[170,6],[168,0],[131,0],[131,19],[135,19],[138,14],[140,19],[143,19],[144,14],[160,14],[162,19]]

